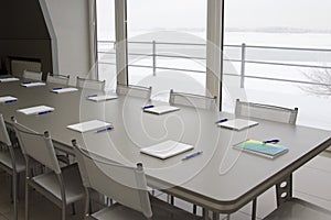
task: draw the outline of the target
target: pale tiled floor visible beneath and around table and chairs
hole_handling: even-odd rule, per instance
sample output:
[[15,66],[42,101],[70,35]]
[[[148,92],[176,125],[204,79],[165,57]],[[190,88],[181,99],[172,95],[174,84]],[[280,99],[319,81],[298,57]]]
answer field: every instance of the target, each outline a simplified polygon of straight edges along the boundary
[[[303,198],[310,202],[331,210],[331,153],[323,153],[309,162],[305,167],[301,167],[293,175],[293,196]],[[23,183],[20,185],[20,201],[19,201],[19,219],[24,219],[24,199],[23,199]],[[31,190],[30,200],[30,219],[31,220],[57,220],[61,217],[61,211],[52,202],[42,197],[34,190]],[[164,194],[157,194],[158,197],[166,199]],[[94,199],[94,209],[97,209],[100,198]],[[175,199],[175,205],[192,210],[192,205]],[[83,219],[83,202],[76,204],[76,215],[67,212],[67,219]],[[264,218],[276,207],[275,189],[266,191],[258,198],[257,217]],[[199,209],[201,213],[201,209]],[[250,219],[250,204],[243,207],[239,211],[231,216],[233,220]],[[221,215],[220,219],[226,218]],[[10,198],[10,176],[6,173],[0,173],[0,220],[13,219],[13,207]]]

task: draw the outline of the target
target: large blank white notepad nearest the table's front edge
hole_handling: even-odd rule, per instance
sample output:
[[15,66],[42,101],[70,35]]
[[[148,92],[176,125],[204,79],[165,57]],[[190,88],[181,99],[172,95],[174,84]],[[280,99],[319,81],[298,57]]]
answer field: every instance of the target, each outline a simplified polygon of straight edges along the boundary
[[164,160],[181,154],[183,152],[190,151],[192,148],[194,148],[194,146],[169,140],[158,143],[156,145],[140,148],[140,152],[150,156]]

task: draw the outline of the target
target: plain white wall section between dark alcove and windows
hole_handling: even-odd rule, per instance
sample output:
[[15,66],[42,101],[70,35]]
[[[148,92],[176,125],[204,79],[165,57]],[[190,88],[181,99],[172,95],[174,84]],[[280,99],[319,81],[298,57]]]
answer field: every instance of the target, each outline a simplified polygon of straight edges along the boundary
[[58,74],[86,76],[90,69],[88,0],[43,0],[56,35]]

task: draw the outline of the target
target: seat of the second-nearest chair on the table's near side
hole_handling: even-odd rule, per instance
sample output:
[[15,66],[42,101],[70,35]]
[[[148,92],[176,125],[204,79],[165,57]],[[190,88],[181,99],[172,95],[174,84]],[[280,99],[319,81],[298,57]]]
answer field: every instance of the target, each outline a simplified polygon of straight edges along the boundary
[[[83,199],[85,191],[77,164],[63,167],[62,176],[65,186],[66,205]],[[42,174],[33,177],[32,180],[45,190],[50,191],[58,200],[62,200],[61,188],[55,173],[51,172]]]

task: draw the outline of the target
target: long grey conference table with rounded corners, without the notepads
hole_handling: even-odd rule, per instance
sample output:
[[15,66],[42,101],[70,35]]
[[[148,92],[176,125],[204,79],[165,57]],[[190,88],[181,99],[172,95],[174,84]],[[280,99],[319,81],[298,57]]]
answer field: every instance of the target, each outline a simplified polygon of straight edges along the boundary
[[[21,81],[0,82],[0,97],[18,98],[15,102],[0,105],[0,113],[8,125],[10,118],[15,117],[19,123],[38,132],[49,131],[58,151],[74,154],[72,140],[76,140],[79,146],[118,163],[142,163],[150,187],[203,207],[206,219],[207,212],[215,213],[213,218],[217,219],[217,213],[239,210],[331,145],[331,132],[325,130],[250,119],[259,124],[233,131],[215,124],[218,119],[234,118],[228,112],[179,106],[179,111],[158,116],[141,108],[167,103],[130,96],[95,102],[87,97],[97,91],[52,92],[57,87],[63,86],[25,88]],[[53,107],[54,111],[41,116],[17,112],[41,105]],[[79,133],[66,128],[95,119],[111,122],[114,130]],[[267,158],[233,148],[247,139],[279,139],[279,144],[289,151]],[[167,160],[140,153],[141,147],[167,140],[191,144],[194,150]],[[182,160],[197,151],[203,153]]]

